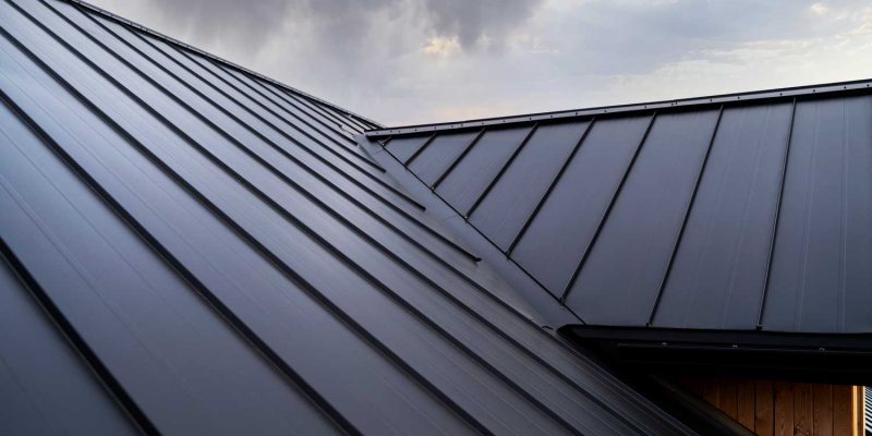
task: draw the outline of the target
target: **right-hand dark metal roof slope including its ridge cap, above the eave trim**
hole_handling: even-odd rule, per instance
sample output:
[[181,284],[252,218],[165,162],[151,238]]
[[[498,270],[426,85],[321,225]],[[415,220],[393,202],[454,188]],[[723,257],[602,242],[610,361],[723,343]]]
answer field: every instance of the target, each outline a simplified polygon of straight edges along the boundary
[[870,94],[863,81],[367,136],[589,325],[872,332]]

